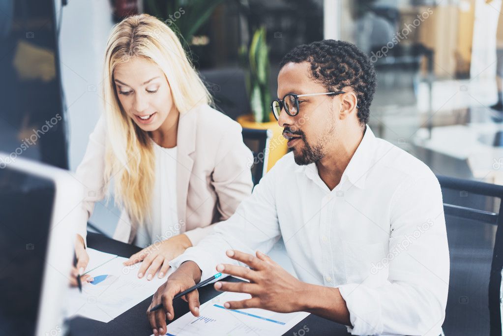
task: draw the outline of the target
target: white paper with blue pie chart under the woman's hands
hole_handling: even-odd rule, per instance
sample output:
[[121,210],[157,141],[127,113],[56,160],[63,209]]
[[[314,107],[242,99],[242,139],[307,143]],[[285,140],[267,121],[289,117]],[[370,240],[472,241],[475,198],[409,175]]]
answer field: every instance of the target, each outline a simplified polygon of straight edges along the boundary
[[[167,276],[157,275],[148,281],[146,276],[139,279],[137,274],[141,263],[123,266],[127,258],[105,254],[88,249],[89,265],[86,274],[94,281],[82,283],[82,293],[71,288],[67,301],[67,315],[75,315],[109,322],[126,310],[154,294]],[[170,275],[172,272],[168,272]]]

